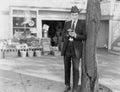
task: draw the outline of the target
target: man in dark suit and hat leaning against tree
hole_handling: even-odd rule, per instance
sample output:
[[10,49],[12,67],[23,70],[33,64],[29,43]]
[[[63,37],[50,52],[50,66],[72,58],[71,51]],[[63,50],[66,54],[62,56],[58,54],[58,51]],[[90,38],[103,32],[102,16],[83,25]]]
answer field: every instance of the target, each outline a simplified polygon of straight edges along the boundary
[[79,82],[79,62],[82,57],[82,41],[86,39],[85,24],[78,19],[79,9],[74,6],[71,8],[72,20],[67,21],[62,33],[63,47],[61,55],[64,56],[65,69],[65,90],[68,92],[71,89],[70,75],[71,63],[73,67],[73,89],[72,92],[77,92]]

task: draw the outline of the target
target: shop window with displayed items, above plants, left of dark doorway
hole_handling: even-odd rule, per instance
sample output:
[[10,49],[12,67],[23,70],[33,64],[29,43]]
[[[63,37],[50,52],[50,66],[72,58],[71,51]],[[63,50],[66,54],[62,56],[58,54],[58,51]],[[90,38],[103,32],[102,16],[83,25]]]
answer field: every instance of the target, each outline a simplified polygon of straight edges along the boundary
[[[29,33],[37,36],[36,11],[13,10],[13,36]],[[27,35],[27,34],[26,34]]]

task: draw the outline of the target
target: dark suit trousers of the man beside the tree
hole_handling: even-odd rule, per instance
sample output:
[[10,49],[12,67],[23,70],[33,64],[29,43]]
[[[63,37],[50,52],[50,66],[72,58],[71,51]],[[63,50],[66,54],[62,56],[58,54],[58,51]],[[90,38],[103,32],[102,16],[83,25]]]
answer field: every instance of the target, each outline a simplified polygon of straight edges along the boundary
[[80,59],[77,58],[74,54],[64,55],[64,70],[65,70],[65,85],[70,86],[71,78],[71,65],[73,69],[73,89],[77,89],[79,82],[79,63]]

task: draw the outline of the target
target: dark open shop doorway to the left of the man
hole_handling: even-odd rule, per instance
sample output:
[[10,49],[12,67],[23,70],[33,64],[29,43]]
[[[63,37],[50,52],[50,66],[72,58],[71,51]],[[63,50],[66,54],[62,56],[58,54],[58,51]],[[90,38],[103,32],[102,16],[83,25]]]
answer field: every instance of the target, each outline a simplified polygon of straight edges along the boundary
[[[42,26],[46,24],[49,26],[48,37],[51,40],[51,46],[58,46],[61,48],[61,34],[65,21],[61,20],[42,20]],[[42,32],[43,33],[43,32]],[[43,37],[43,34],[42,34]]]

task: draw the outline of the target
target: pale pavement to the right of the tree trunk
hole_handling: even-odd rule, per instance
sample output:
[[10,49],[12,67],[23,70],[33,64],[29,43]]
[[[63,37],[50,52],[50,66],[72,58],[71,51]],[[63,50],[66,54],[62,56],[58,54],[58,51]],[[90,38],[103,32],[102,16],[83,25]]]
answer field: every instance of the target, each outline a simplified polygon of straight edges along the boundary
[[120,92],[120,56],[106,50],[98,51],[99,82],[113,92]]

